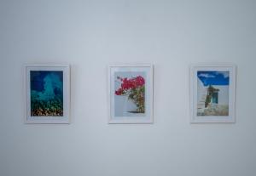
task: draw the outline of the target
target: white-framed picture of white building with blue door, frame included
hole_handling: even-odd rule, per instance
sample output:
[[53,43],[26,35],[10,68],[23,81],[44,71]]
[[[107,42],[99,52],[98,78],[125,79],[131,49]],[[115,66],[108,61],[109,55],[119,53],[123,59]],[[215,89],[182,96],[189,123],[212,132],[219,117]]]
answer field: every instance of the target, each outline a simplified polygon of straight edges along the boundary
[[235,122],[236,65],[191,65],[190,122]]

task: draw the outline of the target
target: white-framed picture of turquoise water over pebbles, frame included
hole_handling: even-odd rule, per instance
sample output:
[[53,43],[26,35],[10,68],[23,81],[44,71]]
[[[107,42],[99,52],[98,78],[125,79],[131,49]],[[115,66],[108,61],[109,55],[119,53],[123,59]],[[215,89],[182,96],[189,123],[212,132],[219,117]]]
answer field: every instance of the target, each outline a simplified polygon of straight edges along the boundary
[[69,65],[26,65],[26,123],[69,123]]

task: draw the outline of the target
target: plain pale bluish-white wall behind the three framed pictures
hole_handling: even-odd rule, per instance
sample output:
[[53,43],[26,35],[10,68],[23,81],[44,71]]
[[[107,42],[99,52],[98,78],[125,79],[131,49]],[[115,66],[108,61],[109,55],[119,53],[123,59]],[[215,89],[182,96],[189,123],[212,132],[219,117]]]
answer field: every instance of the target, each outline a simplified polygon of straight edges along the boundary
[[[256,175],[256,2],[0,1],[1,176]],[[26,125],[22,65],[72,65],[72,123]],[[154,64],[154,124],[108,125],[106,65]],[[189,124],[189,63],[238,66],[236,124]]]

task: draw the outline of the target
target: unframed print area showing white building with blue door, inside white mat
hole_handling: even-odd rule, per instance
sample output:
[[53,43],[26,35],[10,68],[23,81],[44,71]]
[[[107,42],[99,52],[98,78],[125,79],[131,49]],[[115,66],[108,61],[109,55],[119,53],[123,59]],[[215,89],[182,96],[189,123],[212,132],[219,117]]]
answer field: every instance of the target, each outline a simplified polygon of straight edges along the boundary
[[229,116],[230,71],[197,71],[197,116]]

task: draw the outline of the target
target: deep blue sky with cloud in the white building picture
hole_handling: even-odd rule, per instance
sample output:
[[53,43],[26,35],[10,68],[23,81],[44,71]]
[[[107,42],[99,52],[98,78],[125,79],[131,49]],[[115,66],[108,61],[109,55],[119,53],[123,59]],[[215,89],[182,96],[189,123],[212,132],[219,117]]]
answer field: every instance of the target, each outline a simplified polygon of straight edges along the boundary
[[197,71],[197,77],[203,82],[204,86],[230,85],[230,72],[229,71]]

